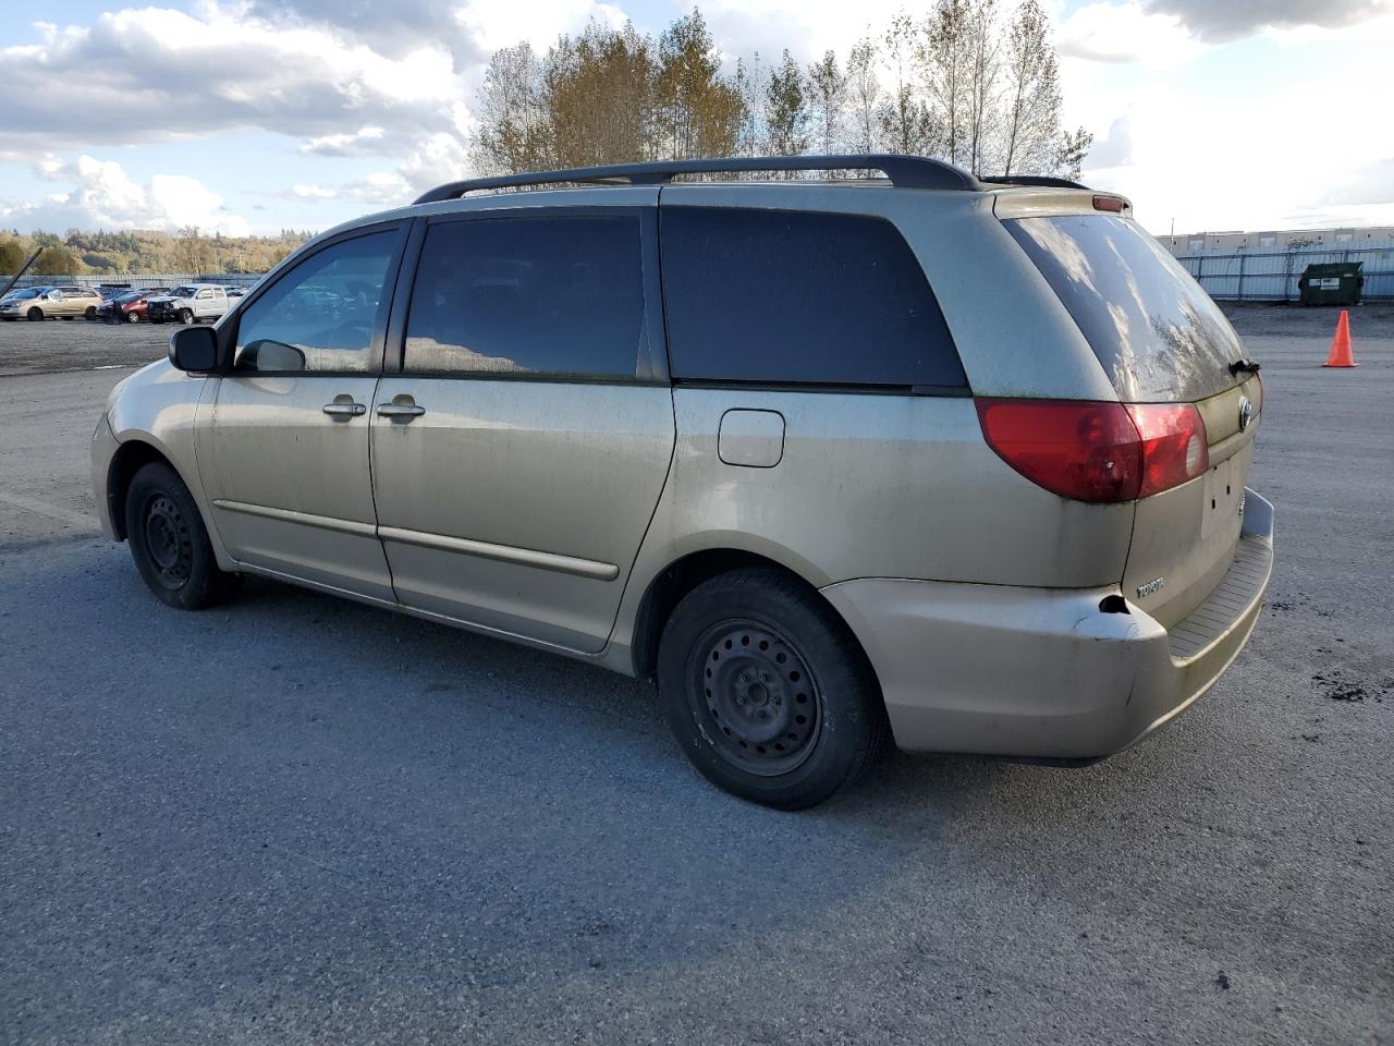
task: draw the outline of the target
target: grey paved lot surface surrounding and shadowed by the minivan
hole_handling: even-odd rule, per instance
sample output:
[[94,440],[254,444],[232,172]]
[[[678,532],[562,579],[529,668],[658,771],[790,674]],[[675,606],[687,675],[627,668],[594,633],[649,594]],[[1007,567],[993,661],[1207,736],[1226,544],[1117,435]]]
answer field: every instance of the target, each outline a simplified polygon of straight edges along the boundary
[[[1328,310],[1235,318],[1278,568],[1214,692],[804,814],[643,683],[270,583],[164,609],[89,515],[124,371],[0,378],[0,1043],[1390,1042],[1394,310],[1355,371]],[[0,370],[152,333],[0,325]]]

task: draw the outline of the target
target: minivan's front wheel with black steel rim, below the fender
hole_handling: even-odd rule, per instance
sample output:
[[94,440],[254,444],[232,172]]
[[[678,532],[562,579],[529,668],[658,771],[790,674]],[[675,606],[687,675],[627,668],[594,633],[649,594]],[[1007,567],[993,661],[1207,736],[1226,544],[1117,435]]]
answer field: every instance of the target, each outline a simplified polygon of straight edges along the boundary
[[162,462],[142,466],[127,487],[125,537],[141,577],[176,609],[212,607],[241,583],[217,569],[194,495]]

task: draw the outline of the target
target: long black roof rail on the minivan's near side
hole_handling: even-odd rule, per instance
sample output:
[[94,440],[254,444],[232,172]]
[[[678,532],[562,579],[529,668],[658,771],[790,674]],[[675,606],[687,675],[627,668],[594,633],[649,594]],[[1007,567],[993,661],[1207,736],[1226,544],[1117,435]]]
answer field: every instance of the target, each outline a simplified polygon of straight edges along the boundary
[[572,167],[524,174],[500,174],[489,179],[447,181],[424,192],[417,204],[459,199],[467,192],[489,188],[516,188],[555,183],[620,183],[627,185],[666,185],[682,174],[735,174],[737,172],[782,170],[880,170],[896,188],[980,190],[977,179],[966,170],[927,156],[898,153],[848,153],[835,156],[723,156],[701,160],[659,160],[657,163],[619,163],[606,167]]

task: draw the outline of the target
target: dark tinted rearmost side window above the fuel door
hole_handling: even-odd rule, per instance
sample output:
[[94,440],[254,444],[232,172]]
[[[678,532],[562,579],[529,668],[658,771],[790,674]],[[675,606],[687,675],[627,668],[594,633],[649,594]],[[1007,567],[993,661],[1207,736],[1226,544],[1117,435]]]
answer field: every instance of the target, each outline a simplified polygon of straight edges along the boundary
[[924,271],[889,222],[661,208],[673,377],[962,389]]

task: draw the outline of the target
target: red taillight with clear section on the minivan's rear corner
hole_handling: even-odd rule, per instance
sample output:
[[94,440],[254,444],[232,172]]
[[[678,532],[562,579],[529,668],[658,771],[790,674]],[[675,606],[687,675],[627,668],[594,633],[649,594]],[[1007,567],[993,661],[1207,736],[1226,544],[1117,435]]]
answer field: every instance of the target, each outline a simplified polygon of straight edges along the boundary
[[980,399],[988,446],[1062,498],[1147,498],[1204,473],[1206,427],[1189,403]]

